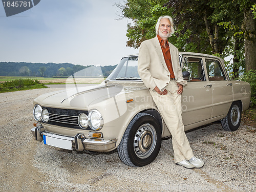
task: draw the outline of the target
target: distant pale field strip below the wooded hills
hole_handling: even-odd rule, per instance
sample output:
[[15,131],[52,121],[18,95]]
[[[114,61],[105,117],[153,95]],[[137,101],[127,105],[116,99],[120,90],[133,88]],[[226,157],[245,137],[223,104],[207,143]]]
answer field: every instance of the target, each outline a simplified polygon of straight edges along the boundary
[[68,77],[52,77],[52,78],[44,78],[44,77],[1,77],[0,82],[11,81],[15,79],[36,79],[44,84],[65,84],[65,83],[79,83],[79,84],[87,84],[87,83],[101,83],[105,77],[76,77],[68,78]]

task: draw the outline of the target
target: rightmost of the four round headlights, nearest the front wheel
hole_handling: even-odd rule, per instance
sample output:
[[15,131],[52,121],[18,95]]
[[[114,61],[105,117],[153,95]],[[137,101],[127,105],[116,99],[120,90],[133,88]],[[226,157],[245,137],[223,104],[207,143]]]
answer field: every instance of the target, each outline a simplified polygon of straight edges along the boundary
[[99,111],[92,110],[88,115],[89,125],[93,130],[100,130],[103,126],[103,118]]

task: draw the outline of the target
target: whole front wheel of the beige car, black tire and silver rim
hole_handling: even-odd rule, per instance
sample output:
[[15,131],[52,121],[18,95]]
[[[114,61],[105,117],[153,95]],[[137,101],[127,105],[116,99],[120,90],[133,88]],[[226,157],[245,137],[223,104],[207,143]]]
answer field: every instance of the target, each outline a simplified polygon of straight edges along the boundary
[[117,147],[120,160],[134,167],[150,164],[160,151],[161,133],[161,127],[154,116],[137,114],[127,126]]

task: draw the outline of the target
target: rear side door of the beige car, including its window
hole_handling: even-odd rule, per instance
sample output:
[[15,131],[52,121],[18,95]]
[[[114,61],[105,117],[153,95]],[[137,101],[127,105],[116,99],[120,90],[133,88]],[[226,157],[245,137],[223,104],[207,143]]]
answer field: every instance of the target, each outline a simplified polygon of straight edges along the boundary
[[222,69],[217,59],[205,58],[209,85],[212,88],[212,114],[211,118],[227,114],[233,101],[232,83],[226,70]]

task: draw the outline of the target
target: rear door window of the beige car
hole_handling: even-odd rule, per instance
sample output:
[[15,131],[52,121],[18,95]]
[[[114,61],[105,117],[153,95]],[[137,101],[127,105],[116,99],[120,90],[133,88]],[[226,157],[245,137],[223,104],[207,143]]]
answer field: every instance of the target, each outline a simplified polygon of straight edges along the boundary
[[220,62],[214,59],[205,59],[205,64],[208,72],[209,81],[226,80],[220,66]]

